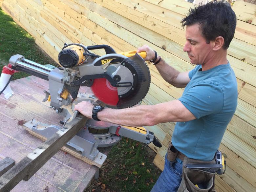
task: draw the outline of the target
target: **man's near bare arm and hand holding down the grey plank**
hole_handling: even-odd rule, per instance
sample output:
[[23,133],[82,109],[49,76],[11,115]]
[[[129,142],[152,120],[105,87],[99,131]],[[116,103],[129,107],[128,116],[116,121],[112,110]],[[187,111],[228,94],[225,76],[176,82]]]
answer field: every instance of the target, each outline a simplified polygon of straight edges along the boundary
[[[93,104],[82,101],[75,106],[84,116],[92,118]],[[98,119],[126,126],[152,126],[169,121],[189,121],[196,117],[179,100],[157,105],[139,105],[127,109],[103,109],[97,114]]]

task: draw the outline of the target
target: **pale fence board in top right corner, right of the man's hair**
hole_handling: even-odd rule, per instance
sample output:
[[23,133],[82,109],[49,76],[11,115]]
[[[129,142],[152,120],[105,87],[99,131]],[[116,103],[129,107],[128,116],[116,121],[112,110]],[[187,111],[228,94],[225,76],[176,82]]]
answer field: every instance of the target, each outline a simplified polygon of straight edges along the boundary
[[255,4],[237,0],[232,9],[235,11],[237,19],[256,25]]

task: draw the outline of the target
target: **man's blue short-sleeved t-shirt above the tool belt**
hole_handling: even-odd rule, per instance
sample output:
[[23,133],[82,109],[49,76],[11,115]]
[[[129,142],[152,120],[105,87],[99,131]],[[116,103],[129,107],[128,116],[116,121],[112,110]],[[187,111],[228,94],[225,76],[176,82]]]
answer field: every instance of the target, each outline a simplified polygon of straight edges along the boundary
[[177,122],[172,143],[188,158],[212,160],[237,106],[237,81],[230,64],[207,71],[196,66],[178,99],[196,117]]

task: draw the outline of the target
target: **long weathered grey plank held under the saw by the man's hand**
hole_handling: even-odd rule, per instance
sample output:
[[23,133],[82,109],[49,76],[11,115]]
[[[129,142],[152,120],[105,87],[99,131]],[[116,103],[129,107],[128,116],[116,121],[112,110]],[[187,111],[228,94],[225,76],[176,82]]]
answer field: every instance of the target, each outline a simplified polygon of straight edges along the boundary
[[57,151],[62,148],[87,121],[87,117],[77,116],[63,129],[47,139],[19,163],[14,165],[0,178],[0,191],[10,191],[21,180],[27,181],[38,171]]

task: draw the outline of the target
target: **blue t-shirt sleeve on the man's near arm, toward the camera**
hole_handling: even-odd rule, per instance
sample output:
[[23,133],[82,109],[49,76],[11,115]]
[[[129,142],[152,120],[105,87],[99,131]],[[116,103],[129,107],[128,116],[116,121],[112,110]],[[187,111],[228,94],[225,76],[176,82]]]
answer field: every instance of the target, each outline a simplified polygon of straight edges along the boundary
[[200,83],[187,90],[178,100],[197,118],[221,112],[222,88],[216,83]]

